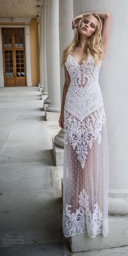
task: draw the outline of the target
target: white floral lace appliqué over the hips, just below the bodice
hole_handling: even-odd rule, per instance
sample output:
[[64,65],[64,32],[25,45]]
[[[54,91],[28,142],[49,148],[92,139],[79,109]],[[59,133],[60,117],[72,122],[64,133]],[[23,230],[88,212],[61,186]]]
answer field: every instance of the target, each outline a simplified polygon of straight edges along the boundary
[[101,129],[106,123],[104,107],[94,111],[84,121],[79,121],[72,114],[64,109],[64,142],[68,140],[78,154],[81,167],[84,168],[85,160],[88,155],[88,147],[92,149],[95,140],[101,142]]

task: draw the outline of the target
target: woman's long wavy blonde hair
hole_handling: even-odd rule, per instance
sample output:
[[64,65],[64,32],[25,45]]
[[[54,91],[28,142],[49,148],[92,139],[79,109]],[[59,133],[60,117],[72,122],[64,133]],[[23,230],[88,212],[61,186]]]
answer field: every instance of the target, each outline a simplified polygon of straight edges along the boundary
[[72,53],[74,48],[79,43],[79,38],[80,38],[79,28],[80,28],[81,22],[84,21],[86,19],[86,17],[88,17],[88,16],[94,16],[95,18],[97,18],[98,25],[95,28],[95,33],[87,41],[87,44],[86,44],[86,47],[85,47],[85,54],[82,57],[81,63],[84,60],[87,60],[90,55],[92,55],[94,57],[96,65],[99,64],[100,54],[104,53],[103,50],[100,47],[101,43],[102,43],[101,31],[102,31],[102,28],[103,28],[103,20],[99,17],[99,15],[95,14],[95,12],[92,12],[90,14],[87,14],[84,18],[81,18],[81,20],[79,21],[78,28],[76,30],[74,39],[72,40],[71,44],[69,44],[69,46],[67,46],[63,50],[62,62],[61,62],[62,67],[65,66],[65,61],[67,60],[68,55]]

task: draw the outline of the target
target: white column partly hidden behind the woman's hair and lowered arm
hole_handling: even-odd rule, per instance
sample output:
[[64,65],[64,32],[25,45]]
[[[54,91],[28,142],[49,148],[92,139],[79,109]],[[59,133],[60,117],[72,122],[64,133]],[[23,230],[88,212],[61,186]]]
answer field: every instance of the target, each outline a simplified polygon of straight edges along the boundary
[[[60,63],[62,59],[63,49],[73,40],[73,0],[59,0],[59,39],[60,39]],[[62,89],[65,82],[64,68],[60,67],[60,85],[61,85],[61,101]],[[63,148],[64,131],[61,129],[55,136],[55,143]]]

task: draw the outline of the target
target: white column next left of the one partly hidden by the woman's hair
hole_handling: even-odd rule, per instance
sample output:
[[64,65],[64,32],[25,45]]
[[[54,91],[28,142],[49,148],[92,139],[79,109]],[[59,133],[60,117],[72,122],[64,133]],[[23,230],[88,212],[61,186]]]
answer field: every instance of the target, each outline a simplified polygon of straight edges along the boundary
[[[60,112],[59,0],[47,0],[47,112]],[[53,115],[52,115],[53,116]]]

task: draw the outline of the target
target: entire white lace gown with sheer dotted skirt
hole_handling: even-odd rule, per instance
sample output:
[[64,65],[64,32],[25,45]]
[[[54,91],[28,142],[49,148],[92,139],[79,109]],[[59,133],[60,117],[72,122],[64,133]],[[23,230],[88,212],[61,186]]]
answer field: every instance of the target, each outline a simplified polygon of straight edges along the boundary
[[63,110],[63,216],[65,237],[108,234],[109,157],[106,116],[93,56],[79,65],[72,53]]

